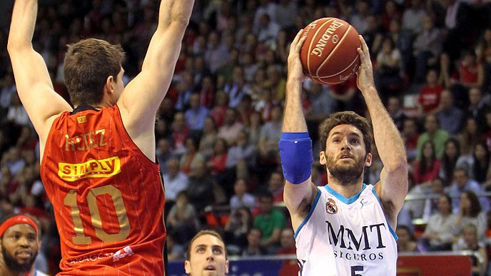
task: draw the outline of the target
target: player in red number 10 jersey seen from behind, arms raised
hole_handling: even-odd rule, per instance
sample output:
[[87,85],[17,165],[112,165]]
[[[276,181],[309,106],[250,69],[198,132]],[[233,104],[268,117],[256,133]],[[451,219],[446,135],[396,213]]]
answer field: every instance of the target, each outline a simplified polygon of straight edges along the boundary
[[171,82],[193,0],[163,0],[141,73],[123,86],[121,46],[69,46],[72,108],[34,51],[36,0],[16,0],[8,51],[17,91],[39,135],[41,179],[54,207],[59,275],[163,275],[163,183],[156,111]]

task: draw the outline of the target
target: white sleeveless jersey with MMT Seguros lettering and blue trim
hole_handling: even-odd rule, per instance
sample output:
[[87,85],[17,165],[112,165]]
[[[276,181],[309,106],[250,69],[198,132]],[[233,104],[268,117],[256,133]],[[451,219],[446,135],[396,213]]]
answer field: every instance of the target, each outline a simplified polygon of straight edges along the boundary
[[395,275],[397,238],[373,185],[363,184],[352,198],[319,187],[295,231],[298,275]]

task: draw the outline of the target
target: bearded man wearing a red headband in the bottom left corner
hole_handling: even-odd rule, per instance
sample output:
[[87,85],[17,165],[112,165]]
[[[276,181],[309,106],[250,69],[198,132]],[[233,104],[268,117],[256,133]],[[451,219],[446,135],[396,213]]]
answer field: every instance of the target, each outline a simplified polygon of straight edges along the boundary
[[28,215],[9,215],[0,223],[2,276],[46,276],[34,269],[41,247],[38,225]]

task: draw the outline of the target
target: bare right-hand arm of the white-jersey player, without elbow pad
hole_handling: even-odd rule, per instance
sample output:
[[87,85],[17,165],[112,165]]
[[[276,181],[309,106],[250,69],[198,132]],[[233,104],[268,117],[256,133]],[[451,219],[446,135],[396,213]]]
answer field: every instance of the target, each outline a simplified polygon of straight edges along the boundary
[[358,71],[357,84],[367,103],[373,124],[375,145],[377,145],[380,160],[384,164],[380,173],[380,181],[375,189],[382,201],[385,216],[395,229],[398,213],[408,193],[408,161],[403,139],[375,89],[368,46],[361,36],[360,41],[363,50],[358,48],[361,66]]

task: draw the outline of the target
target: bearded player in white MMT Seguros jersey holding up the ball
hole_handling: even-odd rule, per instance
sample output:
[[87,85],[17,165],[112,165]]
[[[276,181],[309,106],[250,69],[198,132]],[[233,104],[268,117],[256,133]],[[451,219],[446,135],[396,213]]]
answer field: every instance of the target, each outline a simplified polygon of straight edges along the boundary
[[301,106],[306,76],[300,63],[305,38],[300,31],[288,56],[288,80],[280,155],[284,200],[290,212],[300,275],[395,275],[396,218],[408,191],[408,164],[395,128],[373,82],[368,47],[360,36],[357,83],[370,113],[380,158],[380,181],[363,183],[370,166],[372,130],[368,121],[345,111],[327,118],[320,129],[320,164],[328,184],[311,182],[312,141]]

